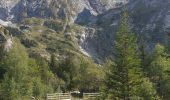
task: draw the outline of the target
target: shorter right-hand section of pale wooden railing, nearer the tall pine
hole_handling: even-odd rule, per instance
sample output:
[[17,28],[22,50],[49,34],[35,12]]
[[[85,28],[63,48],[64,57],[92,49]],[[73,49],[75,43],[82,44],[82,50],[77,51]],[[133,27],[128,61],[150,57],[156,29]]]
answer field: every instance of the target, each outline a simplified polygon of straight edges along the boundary
[[100,93],[83,93],[83,100],[99,100]]

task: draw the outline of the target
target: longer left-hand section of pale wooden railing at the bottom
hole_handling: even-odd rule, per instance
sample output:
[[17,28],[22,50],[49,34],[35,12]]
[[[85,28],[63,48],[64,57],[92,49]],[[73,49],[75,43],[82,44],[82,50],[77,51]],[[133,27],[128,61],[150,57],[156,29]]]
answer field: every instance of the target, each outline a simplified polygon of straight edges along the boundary
[[47,94],[47,100],[71,100],[70,93]]

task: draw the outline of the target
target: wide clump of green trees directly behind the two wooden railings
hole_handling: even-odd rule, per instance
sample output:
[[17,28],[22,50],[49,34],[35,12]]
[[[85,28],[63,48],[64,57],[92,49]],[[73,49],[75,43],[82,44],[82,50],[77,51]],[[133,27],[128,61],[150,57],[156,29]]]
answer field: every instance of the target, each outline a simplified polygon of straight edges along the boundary
[[99,90],[102,71],[87,58],[68,54],[65,60],[56,61],[53,55],[50,65],[53,72],[64,80],[65,84],[60,84],[63,91],[81,90],[94,92]]

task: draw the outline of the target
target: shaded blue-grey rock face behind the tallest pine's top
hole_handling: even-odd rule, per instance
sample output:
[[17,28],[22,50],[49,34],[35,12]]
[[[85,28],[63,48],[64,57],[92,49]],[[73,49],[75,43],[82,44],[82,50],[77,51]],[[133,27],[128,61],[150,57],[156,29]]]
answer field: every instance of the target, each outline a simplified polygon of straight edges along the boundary
[[[133,32],[138,38],[144,38],[149,50],[152,50],[156,43],[169,43],[170,0],[131,0],[124,7],[129,11]],[[98,15],[97,20],[92,23],[78,22],[96,29],[94,37],[86,41],[86,51],[92,52],[97,58],[113,55],[114,35],[124,7],[108,10]]]

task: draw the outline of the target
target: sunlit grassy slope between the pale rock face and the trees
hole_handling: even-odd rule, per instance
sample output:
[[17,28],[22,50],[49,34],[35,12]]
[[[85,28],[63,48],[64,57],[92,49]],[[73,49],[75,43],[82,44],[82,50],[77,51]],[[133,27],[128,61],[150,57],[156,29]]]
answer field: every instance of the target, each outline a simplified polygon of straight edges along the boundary
[[[80,35],[77,33],[81,33],[82,27],[78,25],[67,27],[66,31],[71,35],[66,37],[61,32],[63,23],[58,20],[30,18],[22,23],[31,26],[28,29],[29,33],[22,33],[17,30],[18,33],[21,32],[17,36],[28,49],[30,55],[45,55],[46,59],[49,59],[51,54],[66,56],[68,53],[72,53],[77,56],[85,56],[79,50],[78,42],[75,39],[77,35]],[[50,25],[54,26],[51,27]]]

